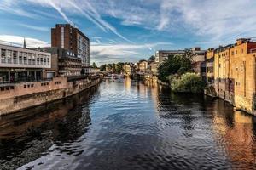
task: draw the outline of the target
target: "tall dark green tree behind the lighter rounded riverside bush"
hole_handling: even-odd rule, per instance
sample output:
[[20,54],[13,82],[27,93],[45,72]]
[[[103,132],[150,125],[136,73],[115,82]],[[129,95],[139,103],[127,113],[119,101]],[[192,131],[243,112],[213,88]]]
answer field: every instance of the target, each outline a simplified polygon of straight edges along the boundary
[[170,75],[182,75],[185,72],[192,71],[192,65],[189,58],[185,55],[170,55],[158,67],[159,79],[162,82],[168,82]]

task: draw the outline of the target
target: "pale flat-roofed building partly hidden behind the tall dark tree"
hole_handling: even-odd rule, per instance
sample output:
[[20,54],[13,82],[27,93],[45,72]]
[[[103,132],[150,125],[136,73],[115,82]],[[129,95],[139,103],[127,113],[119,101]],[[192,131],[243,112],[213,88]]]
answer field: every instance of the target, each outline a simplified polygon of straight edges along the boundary
[[154,61],[156,63],[162,63],[164,60],[168,59],[169,56],[182,55],[184,53],[185,53],[184,50],[160,50],[160,51],[156,51]]

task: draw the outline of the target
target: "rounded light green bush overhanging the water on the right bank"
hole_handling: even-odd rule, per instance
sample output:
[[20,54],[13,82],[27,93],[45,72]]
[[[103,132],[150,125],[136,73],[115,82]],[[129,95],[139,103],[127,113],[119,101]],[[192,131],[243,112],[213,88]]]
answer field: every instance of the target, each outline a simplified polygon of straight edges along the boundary
[[169,77],[173,92],[180,93],[202,93],[205,88],[205,82],[195,73],[185,73],[181,77]]

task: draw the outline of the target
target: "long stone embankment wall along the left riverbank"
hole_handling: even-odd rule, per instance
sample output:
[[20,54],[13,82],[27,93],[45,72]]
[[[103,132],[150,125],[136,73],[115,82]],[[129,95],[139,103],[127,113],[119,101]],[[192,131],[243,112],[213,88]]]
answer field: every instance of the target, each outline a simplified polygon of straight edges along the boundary
[[24,82],[0,88],[0,116],[78,94],[100,82],[99,77],[73,80],[55,77],[52,81]]

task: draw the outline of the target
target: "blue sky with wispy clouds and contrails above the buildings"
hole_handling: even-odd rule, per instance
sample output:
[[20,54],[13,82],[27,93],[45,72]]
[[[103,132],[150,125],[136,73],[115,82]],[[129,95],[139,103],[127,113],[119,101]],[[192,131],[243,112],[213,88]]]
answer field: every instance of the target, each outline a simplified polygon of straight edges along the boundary
[[97,65],[148,59],[161,49],[217,48],[256,37],[255,0],[0,0],[0,40],[49,47],[70,23],[90,38]]

